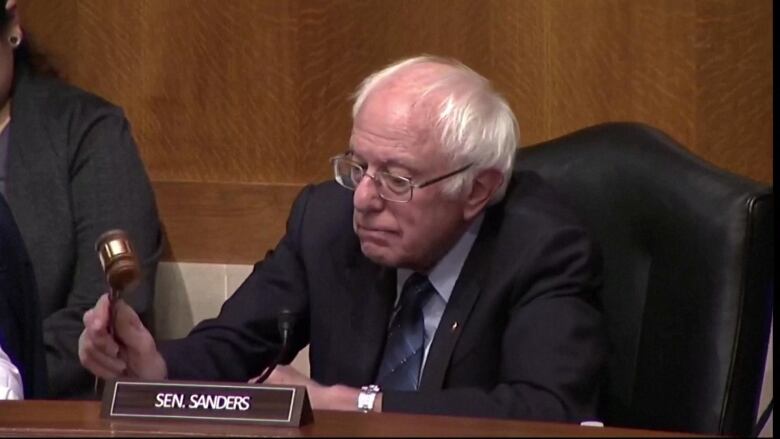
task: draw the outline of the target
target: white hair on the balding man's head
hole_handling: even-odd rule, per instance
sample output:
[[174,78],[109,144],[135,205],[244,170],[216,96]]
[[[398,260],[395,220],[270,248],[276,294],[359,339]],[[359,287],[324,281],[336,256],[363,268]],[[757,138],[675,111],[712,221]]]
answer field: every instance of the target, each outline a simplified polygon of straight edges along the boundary
[[471,167],[442,182],[442,191],[454,196],[471,189],[474,176],[484,169],[496,169],[504,176],[490,204],[501,201],[509,184],[520,131],[509,104],[483,76],[464,64],[430,55],[401,60],[366,78],[355,92],[352,118],[355,119],[366,98],[381,84],[412,66],[440,65],[441,73],[415,84],[420,102],[432,101],[432,133],[442,152],[456,166]]

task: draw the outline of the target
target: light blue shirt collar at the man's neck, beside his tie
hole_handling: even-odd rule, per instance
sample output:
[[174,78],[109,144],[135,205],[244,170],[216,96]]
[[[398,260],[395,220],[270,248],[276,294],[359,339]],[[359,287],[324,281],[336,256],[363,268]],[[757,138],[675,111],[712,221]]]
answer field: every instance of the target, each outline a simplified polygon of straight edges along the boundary
[[[469,226],[466,232],[461,235],[458,242],[439,259],[439,262],[434,265],[433,269],[428,273],[428,280],[431,282],[436,292],[439,293],[445,302],[449,302],[452,290],[455,288],[455,282],[457,282],[460,276],[460,270],[463,268],[463,264],[466,262],[471,247],[474,245],[474,241],[477,239],[479,229],[482,226],[482,221],[485,219],[485,213],[482,212]],[[409,276],[414,273],[414,270],[408,268],[399,268],[396,274],[396,297],[401,295],[401,288],[404,282]]]

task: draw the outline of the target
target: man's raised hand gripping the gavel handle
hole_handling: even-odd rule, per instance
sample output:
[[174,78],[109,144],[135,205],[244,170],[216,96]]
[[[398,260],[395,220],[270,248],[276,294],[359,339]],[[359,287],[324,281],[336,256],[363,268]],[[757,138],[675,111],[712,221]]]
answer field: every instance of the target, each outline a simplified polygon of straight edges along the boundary
[[79,360],[101,378],[121,376],[164,379],[167,367],[157,351],[152,334],[138,314],[124,301],[116,302],[114,336],[108,332],[108,295],[84,313],[84,331],[79,337]]

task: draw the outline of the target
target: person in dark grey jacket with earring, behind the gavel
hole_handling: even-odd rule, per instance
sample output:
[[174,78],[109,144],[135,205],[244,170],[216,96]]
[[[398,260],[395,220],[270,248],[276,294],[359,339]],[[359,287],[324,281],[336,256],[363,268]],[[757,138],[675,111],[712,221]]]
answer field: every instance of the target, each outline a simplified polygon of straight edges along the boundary
[[42,74],[16,0],[0,2],[0,194],[38,284],[50,396],[91,397],[77,350],[82,315],[107,290],[95,240],[128,232],[145,276],[127,300],[150,323],[162,248],[154,194],[122,110]]

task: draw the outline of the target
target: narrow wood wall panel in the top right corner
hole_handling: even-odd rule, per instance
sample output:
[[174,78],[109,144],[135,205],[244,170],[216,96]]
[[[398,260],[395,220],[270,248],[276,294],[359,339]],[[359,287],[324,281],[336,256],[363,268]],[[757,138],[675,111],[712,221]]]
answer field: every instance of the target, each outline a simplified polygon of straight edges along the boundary
[[696,8],[693,149],[718,166],[771,182],[773,2],[699,0]]

